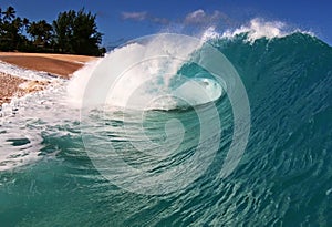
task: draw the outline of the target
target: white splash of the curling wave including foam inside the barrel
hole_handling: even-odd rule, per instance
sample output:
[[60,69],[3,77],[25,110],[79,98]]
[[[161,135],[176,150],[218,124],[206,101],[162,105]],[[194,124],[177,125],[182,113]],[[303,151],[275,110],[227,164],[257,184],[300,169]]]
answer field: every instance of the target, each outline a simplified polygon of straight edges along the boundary
[[[190,96],[191,104],[216,101],[221,95],[221,85],[217,81],[196,79],[191,82],[187,81],[184,85],[183,78],[186,75],[177,74],[180,66],[201,44],[201,42],[184,43],[181,39],[175,40],[175,38],[165,35],[137,40],[116,49],[103,61],[96,62],[96,66],[92,69],[94,72],[91,71],[91,68],[77,72],[77,75],[69,84],[70,100],[81,103],[85,99],[84,102],[91,102],[91,105],[108,104],[118,107],[143,109],[155,97],[168,95],[168,102],[164,103],[164,106],[159,104],[149,106],[164,110],[177,107],[176,101],[170,96],[177,96],[180,100],[187,100]],[[103,87],[101,81],[103,81]],[[176,82],[174,83],[174,81]],[[91,91],[86,86],[89,83],[96,83]],[[82,85],[85,89],[82,89]],[[179,91],[180,89],[184,91]],[[193,92],[195,89],[200,90],[200,93],[199,91],[197,94],[188,93],[189,90]],[[111,92],[110,94],[100,94],[98,90]],[[136,92],[135,96],[131,96],[134,91]],[[216,96],[217,94],[219,96]],[[212,100],[204,96],[210,96]],[[133,106],[128,106],[128,100]],[[166,101],[166,99],[164,100]]]

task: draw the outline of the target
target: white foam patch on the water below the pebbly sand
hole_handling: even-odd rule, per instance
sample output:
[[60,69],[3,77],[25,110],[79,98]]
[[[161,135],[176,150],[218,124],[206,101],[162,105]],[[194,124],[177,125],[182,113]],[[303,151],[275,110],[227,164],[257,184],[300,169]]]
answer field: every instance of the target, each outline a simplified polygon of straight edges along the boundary
[[42,135],[70,134],[59,130],[59,125],[77,121],[80,113],[66,105],[64,85],[56,84],[44,91],[14,97],[11,103],[2,105],[0,171],[12,169],[41,159],[43,157],[41,156]]

